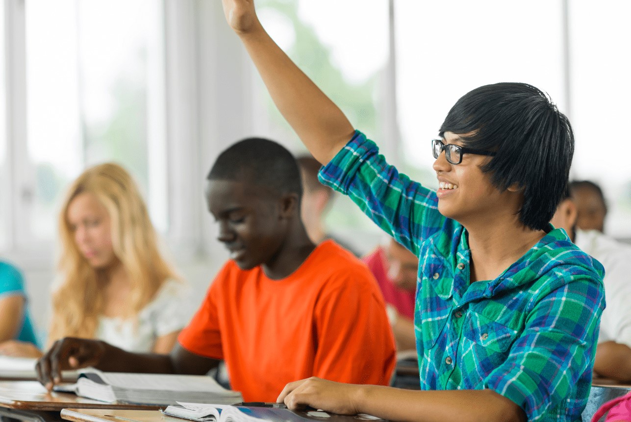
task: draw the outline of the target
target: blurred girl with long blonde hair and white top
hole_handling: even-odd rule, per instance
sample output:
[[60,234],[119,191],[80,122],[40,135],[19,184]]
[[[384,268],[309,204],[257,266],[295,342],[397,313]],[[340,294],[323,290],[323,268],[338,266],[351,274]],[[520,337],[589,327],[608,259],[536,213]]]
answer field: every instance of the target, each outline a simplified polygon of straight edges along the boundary
[[[160,253],[129,173],[105,163],[81,174],[62,204],[59,236],[48,346],[73,336],[168,353],[189,319],[189,288]],[[3,344],[0,351],[42,355],[29,343]]]

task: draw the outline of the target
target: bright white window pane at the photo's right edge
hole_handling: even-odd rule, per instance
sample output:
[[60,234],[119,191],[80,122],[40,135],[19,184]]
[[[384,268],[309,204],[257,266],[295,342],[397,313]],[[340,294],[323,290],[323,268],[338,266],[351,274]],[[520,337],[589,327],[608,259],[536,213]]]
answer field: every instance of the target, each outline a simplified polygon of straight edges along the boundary
[[569,2],[572,60],[572,125],[576,151],[574,179],[589,179],[609,202],[605,232],[631,238],[631,155],[626,128],[631,115],[625,17],[631,3],[608,0]]

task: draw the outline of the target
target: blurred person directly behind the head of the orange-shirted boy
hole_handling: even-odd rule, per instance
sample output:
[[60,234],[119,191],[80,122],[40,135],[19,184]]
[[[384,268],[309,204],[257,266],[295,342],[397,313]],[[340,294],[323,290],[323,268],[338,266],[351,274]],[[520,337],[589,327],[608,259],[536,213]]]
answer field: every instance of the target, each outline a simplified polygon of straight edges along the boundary
[[310,155],[298,156],[298,167],[300,167],[300,177],[302,179],[302,204],[300,213],[302,222],[307,229],[307,235],[316,245],[327,239],[335,240],[338,245],[346,250],[350,250],[355,256],[359,256],[346,242],[339,240],[324,227],[324,218],[333,202],[333,189],[325,186],[317,180],[317,173],[322,165]]

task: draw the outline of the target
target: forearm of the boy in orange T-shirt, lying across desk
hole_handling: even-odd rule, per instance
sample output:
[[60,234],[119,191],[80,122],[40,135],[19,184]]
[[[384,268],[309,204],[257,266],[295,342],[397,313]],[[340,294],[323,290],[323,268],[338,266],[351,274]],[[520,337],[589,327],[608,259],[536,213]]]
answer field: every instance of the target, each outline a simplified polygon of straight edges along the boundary
[[131,353],[103,342],[105,352],[96,366],[107,372],[175,373],[169,355]]

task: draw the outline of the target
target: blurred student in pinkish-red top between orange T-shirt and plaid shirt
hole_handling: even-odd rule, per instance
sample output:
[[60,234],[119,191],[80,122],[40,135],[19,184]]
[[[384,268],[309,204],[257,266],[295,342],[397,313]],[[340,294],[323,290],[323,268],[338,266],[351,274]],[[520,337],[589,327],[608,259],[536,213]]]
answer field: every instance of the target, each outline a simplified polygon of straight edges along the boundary
[[418,257],[393,238],[362,261],[377,279],[399,352],[416,349],[414,306]]

